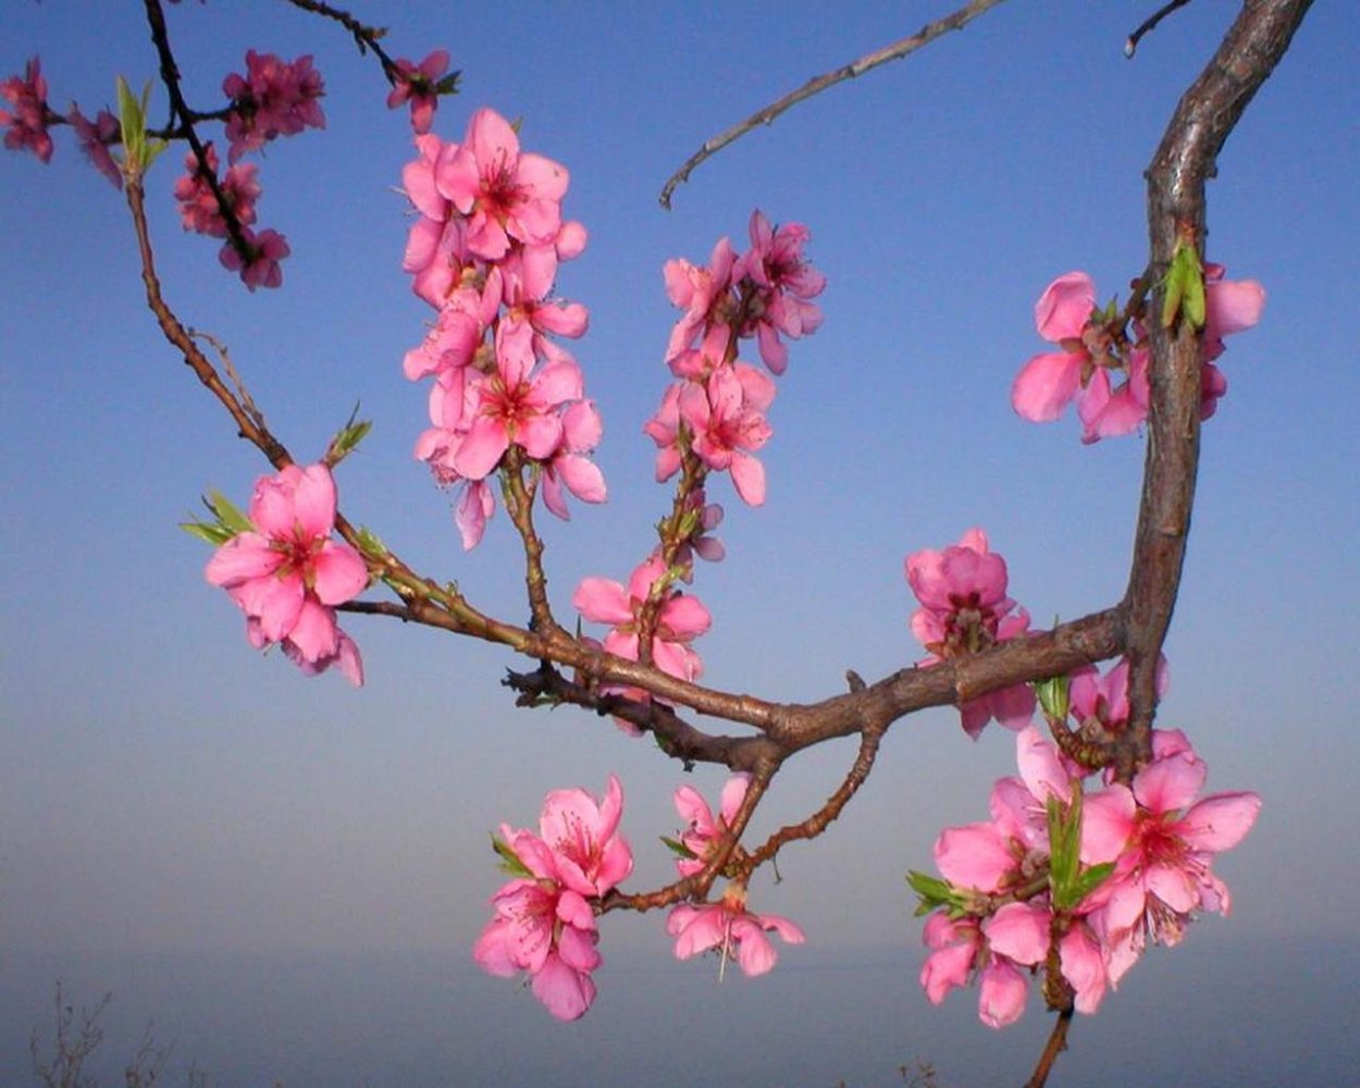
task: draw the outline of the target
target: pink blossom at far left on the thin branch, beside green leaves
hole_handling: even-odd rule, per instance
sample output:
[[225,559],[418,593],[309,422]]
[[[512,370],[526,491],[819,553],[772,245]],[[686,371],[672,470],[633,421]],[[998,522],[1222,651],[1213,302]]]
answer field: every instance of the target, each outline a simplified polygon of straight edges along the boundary
[[360,681],[358,649],[336,626],[335,605],[354,600],[369,583],[369,571],[354,548],[330,540],[330,469],[288,465],[261,476],[249,517],[254,529],[231,537],[208,560],[208,582],[226,589],[246,613],[256,647],[282,642],[306,666],[320,672],[339,664]]

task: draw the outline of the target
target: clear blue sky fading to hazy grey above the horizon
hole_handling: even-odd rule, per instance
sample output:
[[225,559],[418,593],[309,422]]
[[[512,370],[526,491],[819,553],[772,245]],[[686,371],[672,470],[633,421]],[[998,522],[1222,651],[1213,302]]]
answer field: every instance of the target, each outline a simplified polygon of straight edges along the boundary
[[[139,84],[154,72],[128,7],[10,4],[0,71],[41,54],[53,103],[92,113],[116,73]],[[445,139],[491,105],[573,174],[567,211],[590,246],[559,291],[590,307],[575,354],[605,420],[611,502],[545,526],[559,611],[585,575],[626,578],[665,509],[641,434],[668,379],[661,265],[704,258],[721,234],[743,243],[753,207],[811,226],[830,286],[826,325],[793,345],[774,404],[767,506],[717,496],[729,558],[696,585],[715,620],[700,645],[709,681],[804,700],[839,690],[846,668],[877,677],[913,661],[903,556],[972,525],[1038,622],[1119,596],[1142,439],[1084,449],[1074,420],[1024,424],[1006,394],[1042,348],[1032,306],[1049,280],[1083,268],[1108,296],[1141,269],[1141,171],[1231,18],[1227,4],[1191,5],[1126,61],[1123,37],[1149,7],[1004,5],[747,136],[665,214],[662,181],[703,139],[941,11],[509,3],[456,19],[442,3],[363,5],[392,26],[394,54],[443,45],[464,71],[437,118]],[[1210,185],[1210,257],[1259,279],[1269,301],[1223,359],[1229,393],[1205,431],[1160,721],[1189,732],[1210,787],[1265,798],[1221,862],[1236,917],[1205,926],[1353,947],[1360,854],[1338,838],[1360,762],[1360,86],[1344,8],[1308,16]],[[203,106],[246,48],[313,53],[328,126],[262,160],[261,224],[294,252],[277,292],[250,295],[218,268],[215,243],[181,233],[178,151],[158,163],[167,298],[230,345],[299,457],[320,454],[360,401],[375,430],[340,473],[345,511],[518,619],[503,514],[465,555],[446,496],[411,458],[424,394],[400,367],[428,311],[398,265],[405,116],[384,109],[375,65],[347,38],[283,4],[186,3],[170,27]],[[627,789],[635,885],[664,880],[656,838],[675,830],[679,767],[594,718],[515,711],[498,685],[517,664],[507,653],[352,619],[369,673],[354,691],[246,646],[238,613],[203,581],[207,549],[175,524],[208,487],[243,502],[262,461],[159,339],[121,199],[67,135],[48,167],[0,156],[4,942],[469,947],[498,883],[487,831],[530,824],[547,789],[598,792],[611,771]],[[805,815],[851,758],[834,745],[790,766],[759,826]],[[941,826],[985,816],[1012,759],[1009,734],[971,744],[951,713],[898,724],[842,826],[786,851],[783,881],[758,879],[755,903],[817,945],[914,945],[902,873],[928,866]],[[713,793],[721,781],[695,777]],[[604,926],[605,951],[664,940],[657,918]]]

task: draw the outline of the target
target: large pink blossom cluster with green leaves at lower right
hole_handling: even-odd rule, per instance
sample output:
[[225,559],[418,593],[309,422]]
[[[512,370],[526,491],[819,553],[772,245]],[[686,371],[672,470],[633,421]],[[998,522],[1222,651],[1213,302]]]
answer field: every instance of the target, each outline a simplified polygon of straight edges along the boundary
[[[1118,730],[1127,672],[1084,672],[1072,711]],[[1125,715],[1121,718],[1119,714]],[[1019,777],[998,779],[991,819],[947,828],[934,846],[944,877],[910,880],[932,910],[921,985],[932,1002],[978,982],[989,1027],[1024,1012],[1043,968],[1050,1005],[1092,1013],[1148,940],[1175,945],[1202,911],[1227,914],[1213,855],[1236,846],[1261,808],[1254,793],[1198,798],[1206,768],[1179,730],[1155,730],[1152,762],[1125,786],[1065,756],[1035,726],[1016,737]]]

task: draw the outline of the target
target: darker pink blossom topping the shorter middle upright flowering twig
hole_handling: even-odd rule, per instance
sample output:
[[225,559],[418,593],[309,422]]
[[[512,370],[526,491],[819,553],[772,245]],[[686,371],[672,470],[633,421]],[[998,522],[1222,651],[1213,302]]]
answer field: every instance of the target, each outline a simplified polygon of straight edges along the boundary
[[756,287],[747,303],[743,336],[756,336],[760,359],[774,374],[783,374],[789,366],[789,348],[779,333],[798,339],[816,332],[821,325],[821,310],[816,298],[827,286],[827,277],[802,257],[802,248],[812,233],[802,223],[785,223],[778,230],[758,208],[751,214],[751,250],[741,257],[740,275]]

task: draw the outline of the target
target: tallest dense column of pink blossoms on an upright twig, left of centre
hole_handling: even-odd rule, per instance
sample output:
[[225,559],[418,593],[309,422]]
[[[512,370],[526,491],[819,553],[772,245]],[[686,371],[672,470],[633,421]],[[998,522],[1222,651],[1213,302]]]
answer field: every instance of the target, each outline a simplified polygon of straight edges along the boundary
[[507,453],[533,465],[544,505],[566,518],[566,492],[604,502],[589,454],[600,415],[575,359],[554,339],[579,337],[588,313],[552,295],[558,265],[586,231],[562,218],[566,167],[520,150],[510,124],[479,110],[460,143],[416,137],[403,182],[419,218],[403,268],[438,316],[407,352],[412,381],[432,378],[430,420],[416,442],[441,484],[461,488],[465,548],[481,540],[495,498],[487,477]]

